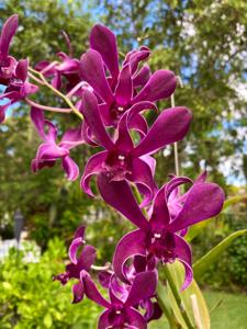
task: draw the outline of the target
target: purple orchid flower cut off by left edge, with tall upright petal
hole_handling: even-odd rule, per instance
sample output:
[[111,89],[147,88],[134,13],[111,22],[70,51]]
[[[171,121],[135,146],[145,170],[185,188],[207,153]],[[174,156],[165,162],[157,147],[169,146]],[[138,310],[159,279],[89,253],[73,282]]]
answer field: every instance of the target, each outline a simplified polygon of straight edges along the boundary
[[11,41],[18,30],[18,15],[10,16],[2,26],[0,36],[0,84],[8,86],[14,76],[16,59],[9,56]]

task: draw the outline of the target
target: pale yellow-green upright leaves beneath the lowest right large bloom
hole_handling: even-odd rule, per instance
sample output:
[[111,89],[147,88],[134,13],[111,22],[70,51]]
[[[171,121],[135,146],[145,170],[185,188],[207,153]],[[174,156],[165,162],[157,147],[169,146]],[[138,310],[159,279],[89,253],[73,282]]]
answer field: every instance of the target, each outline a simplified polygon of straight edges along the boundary
[[[184,281],[183,265],[180,262],[175,262],[172,264],[168,264],[168,270],[172,275],[177,290],[180,291],[182,283]],[[177,317],[177,320],[182,326],[182,328],[186,329],[188,328],[181,315],[181,310],[186,309],[191,322],[197,324],[197,328],[210,329],[210,313],[205,299],[202,295],[202,292],[194,280],[186,291],[180,293],[180,297],[182,300],[181,309],[178,307],[176,303],[176,299],[172,295],[172,291],[169,287],[169,284],[168,284],[168,296],[170,299],[171,308]],[[192,300],[195,302],[192,303]],[[195,306],[198,306],[199,315],[195,315],[193,310]]]

